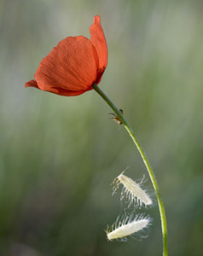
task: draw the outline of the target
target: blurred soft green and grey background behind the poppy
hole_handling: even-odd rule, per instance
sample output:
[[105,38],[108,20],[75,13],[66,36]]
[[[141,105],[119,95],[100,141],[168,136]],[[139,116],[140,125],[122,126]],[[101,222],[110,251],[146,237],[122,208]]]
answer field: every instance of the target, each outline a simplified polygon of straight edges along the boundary
[[[107,241],[122,206],[114,177],[147,177],[124,127],[95,91],[33,88],[39,62],[102,17],[102,90],[124,110],[165,202],[170,255],[202,255],[203,2],[0,1],[0,255],[161,255],[158,207],[147,239]],[[153,192],[152,192],[153,193]]]

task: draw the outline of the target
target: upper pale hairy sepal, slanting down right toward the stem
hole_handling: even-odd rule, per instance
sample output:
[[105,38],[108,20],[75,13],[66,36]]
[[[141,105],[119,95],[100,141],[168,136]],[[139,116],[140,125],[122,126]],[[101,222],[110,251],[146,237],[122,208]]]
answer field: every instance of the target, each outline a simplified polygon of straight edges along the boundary
[[127,197],[130,201],[130,205],[135,202],[140,206],[144,204],[145,206],[150,206],[153,204],[152,199],[146,193],[144,189],[141,188],[139,183],[136,183],[131,177],[127,177],[124,175],[124,172],[120,173],[118,177],[114,180],[115,188],[113,190],[113,194],[116,189],[118,189],[119,184],[122,183],[124,188],[121,193],[121,199]]

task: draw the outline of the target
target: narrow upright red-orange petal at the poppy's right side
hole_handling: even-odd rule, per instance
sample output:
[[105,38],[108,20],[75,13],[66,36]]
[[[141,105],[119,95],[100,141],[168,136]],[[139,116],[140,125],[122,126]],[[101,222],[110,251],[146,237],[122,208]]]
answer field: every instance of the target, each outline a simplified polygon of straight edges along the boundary
[[91,43],[96,49],[99,59],[99,69],[104,72],[107,67],[107,42],[104,37],[102,26],[100,23],[100,16],[94,17],[94,22],[90,26]]

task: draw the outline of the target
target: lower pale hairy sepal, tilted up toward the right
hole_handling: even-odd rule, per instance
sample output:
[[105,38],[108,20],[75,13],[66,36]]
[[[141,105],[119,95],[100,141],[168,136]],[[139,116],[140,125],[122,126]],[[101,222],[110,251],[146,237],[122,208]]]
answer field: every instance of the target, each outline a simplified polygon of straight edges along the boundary
[[143,231],[150,224],[151,219],[149,216],[143,217],[142,215],[136,216],[136,218],[126,217],[115,221],[112,228],[107,229],[107,239],[112,241],[113,239],[126,240],[126,236],[135,235],[139,231]]

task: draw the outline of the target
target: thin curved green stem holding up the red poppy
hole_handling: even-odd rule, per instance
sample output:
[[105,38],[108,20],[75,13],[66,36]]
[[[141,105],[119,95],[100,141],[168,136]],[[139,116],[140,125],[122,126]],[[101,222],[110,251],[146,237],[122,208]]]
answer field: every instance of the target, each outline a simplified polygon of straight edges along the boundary
[[119,120],[125,125],[125,129],[128,131],[129,135],[131,136],[131,139],[132,139],[133,143],[135,143],[136,148],[138,149],[139,153],[142,156],[142,160],[143,160],[144,165],[146,166],[146,168],[148,170],[148,175],[151,179],[151,182],[154,186],[154,190],[156,192],[158,206],[159,206],[162,237],[163,237],[163,256],[167,256],[168,255],[168,250],[167,250],[167,226],[166,226],[166,218],[165,218],[165,208],[164,208],[164,204],[163,204],[163,201],[162,201],[160,193],[159,193],[159,186],[158,186],[158,183],[156,181],[156,177],[154,175],[154,172],[153,172],[151,166],[149,165],[148,158],[147,158],[146,154],[144,153],[140,143],[138,143],[134,131],[132,130],[132,128],[128,124],[128,122],[125,120],[123,114],[120,113],[119,109],[113,104],[113,102],[104,94],[104,92],[96,84],[93,84],[92,87],[93,87],[94,90],[96,90],[96,92],[100,96],[102,96],[104,101],[107,102],[108,106],[113,109],[114,113],[116,113]]

